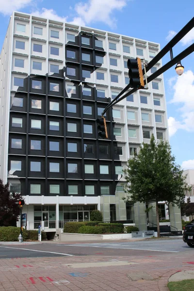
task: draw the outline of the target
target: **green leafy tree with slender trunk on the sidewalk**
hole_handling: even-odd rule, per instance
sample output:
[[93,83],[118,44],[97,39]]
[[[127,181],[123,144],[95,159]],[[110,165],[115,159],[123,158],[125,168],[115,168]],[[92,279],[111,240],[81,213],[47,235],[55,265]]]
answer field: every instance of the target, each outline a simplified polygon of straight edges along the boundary
[[176,204],[180,207],[189,186],[183,170],[175,162],[171,147],[167,141],[160,143],[152,134],[150,145],[143,143],[139,154],[129,159],[128,169],[124,171],[127,184],[125,192],[129,194],[125,201],[156,202],[157,230],[160,236],[159,201]]

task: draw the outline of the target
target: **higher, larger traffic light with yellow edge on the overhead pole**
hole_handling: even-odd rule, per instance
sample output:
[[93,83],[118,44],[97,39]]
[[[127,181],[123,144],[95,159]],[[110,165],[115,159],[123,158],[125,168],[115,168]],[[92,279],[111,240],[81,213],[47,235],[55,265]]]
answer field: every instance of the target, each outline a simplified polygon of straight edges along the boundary
[[140,58],[128,60],[129,85],[131,88],[144,88],[144,77],[142,71],[142,62]]

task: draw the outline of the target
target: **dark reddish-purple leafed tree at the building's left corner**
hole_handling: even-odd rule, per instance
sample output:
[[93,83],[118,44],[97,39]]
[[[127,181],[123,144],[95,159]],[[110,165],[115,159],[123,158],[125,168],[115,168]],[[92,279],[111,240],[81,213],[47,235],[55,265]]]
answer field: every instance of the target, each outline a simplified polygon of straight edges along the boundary
[[20,213],[19,200],[21,194],[10,194],[9,183],[3,185],[0,179],[0,226],[16,226]]

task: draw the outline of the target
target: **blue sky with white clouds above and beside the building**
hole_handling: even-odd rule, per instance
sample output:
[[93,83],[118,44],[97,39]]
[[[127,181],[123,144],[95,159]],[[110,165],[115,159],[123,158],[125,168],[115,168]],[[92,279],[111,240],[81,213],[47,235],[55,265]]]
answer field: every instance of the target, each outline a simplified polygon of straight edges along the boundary
[[[194,16],[194,0],[0,0],[0,48],[13,11],[71,22],[160,43],[161,49]],[[194,42],[194,28],[173,48]],[[169,54],[162,64],[170,60]],[[164,75],[170,145],[183,169],[194,169],[194,53]]]

